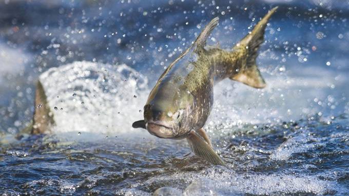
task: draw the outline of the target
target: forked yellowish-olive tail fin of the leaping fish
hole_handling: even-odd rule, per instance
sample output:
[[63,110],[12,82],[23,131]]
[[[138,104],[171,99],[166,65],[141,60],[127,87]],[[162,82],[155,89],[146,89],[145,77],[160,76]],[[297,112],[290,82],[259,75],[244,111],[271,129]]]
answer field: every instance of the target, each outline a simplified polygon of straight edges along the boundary
[[246,35],[235,47],[247,49],[246,66],[236,75],[230,79],[237,80],[254,88],[264,88],[266,83],[257,68],[256,58],[258,49],[264,41],[264,30],[269,18],[274,14],[278,7],[270,10],[255,26],[253,31]]

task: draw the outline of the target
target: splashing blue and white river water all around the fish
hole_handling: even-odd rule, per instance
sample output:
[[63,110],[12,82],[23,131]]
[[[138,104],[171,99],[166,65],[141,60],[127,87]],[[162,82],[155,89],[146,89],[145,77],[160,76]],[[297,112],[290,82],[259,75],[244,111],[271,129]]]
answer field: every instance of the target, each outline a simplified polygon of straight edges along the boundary
[[[131,128],[205,24],[231,48],[279,6],[267,87],[224,80],[205,125],[227,167]],[[348,1],[0,2],[0,194],[348,195]],[[40,79],[56,122],[23,133]]]

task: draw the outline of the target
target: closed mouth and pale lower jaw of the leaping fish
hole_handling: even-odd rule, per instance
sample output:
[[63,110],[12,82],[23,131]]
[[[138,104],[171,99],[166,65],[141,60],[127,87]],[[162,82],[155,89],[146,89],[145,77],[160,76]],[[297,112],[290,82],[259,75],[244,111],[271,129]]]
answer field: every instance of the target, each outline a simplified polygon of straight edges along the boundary
[[146,124],[147,130],[151,135],[159,138],[173,138],[176,134],[173,132],[173,128],[161,121],[150,121]]

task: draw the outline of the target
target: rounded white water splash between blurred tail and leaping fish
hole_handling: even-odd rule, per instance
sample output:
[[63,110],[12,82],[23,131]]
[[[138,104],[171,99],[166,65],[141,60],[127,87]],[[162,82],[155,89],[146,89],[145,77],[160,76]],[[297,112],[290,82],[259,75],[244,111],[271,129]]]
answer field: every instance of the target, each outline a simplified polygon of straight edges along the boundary
[[[147,79],[125,64],[73,62],[40,76],[55,132],[127,132],[146,100]],[[61,110],[58,110],[61,108]]]

